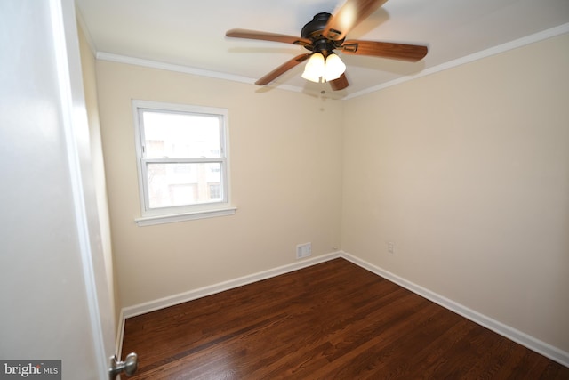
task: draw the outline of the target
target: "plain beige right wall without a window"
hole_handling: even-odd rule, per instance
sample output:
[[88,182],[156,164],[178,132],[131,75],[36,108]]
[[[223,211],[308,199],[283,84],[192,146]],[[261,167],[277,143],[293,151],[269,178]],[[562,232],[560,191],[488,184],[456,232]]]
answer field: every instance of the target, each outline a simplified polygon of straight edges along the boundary
[[346,101],[341,240],[565,352],[567,46],[557,36]]

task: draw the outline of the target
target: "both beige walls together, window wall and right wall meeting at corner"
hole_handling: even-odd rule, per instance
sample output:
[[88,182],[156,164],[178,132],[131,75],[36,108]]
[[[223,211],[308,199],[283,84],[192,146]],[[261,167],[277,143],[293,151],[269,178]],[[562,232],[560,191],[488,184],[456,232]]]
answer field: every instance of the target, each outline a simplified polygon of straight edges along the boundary
[[[569,351],[567,45],[349,101],[97,61],[122,306],[293,263],[311,241]],[[228,109],[235,215],[136,225],[132,99]]]

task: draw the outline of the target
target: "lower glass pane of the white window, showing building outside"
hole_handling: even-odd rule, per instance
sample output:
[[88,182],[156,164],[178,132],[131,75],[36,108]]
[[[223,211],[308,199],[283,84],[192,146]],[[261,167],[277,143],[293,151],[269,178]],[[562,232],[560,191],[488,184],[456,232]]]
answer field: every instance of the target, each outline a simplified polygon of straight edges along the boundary
[[150,208],[220,202],[221,164],[147,164]]

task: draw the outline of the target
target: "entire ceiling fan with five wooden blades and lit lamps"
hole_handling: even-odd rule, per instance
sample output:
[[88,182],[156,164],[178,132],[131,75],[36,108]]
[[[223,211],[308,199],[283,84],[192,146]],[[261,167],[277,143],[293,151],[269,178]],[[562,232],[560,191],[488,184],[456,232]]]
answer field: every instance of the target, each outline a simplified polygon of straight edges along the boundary
[[301,37],[266,33],[247,29],[228,30],[226,36],[284,44],[299,44],[311,53],[297,55],[255,82],[268,85],[277,77],[303,61],[307,62],[302,77],[313,82],[329,82],[334,91],[348,87],[344,74],[346,66],[334,50],[344,54],[370,55],[402,61],[421,61],[427,55],[427,46],[395,44],[379,41],[346,40],[349,31],[369,17],[387,0],[347,0],[336,14],[318,13],[301,30]]

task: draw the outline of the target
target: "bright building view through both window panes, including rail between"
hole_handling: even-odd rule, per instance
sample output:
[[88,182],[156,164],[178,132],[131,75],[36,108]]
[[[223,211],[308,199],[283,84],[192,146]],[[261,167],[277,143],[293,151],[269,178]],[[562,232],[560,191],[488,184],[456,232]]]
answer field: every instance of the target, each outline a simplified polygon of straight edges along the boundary
[[148,207],[219,202],[220,117],[150,109],[141,117]]

